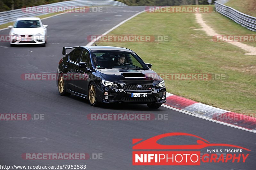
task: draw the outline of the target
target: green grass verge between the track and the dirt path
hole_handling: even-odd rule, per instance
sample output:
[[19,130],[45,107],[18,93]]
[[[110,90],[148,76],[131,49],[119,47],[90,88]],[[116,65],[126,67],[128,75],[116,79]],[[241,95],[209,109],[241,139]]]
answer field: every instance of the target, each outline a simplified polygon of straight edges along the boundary
[[[221,20],[213,20],[225,25]],[[212,41],[192,13],[142,13],[109,35],[167,35],[167,42],[97,42],[134,50],[157,73],[225,74],[225,80],[165,80],[167,91],[237,113],[256,113],[256,58]],[[243,28],[243,27],[242,27]]]

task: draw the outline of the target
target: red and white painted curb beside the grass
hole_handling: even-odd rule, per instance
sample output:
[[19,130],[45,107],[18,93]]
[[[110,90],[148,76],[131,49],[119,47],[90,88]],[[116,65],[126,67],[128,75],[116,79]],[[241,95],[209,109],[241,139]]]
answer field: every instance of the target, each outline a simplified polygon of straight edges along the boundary
[[204,117],[204,119],[211,119],[214,122],[219,121],[221,124],[230,124],[232,127],[256,133],[255,117],[219,109],[171,93],[167,93],[166,103],[164,103],[164,105],[170,109],[175,108],[174,110],[181,110],[182,112],[184,111],[196,115],[196,117]]

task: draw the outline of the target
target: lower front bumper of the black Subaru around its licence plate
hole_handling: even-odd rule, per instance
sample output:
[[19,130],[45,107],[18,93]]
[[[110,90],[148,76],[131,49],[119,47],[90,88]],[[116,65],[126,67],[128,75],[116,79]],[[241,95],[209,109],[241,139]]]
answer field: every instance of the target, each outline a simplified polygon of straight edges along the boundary
[[[133,92],[133,93],[147,93],[147,97],[132,97],[132,92],[126,92],[124,89],[108,88],[103,86],[100,90],[100,102],[103,103],[131,103],[131,104],[147,104],[147,103],[166,103],[166,89],[165,87],[156,89],[150,93],[148,92]],[[108,95],[104,95],[108,92]],[[164,94],[165,93],[165,94]],[[108,99],[105,99],[108,96]],[[162,97],[164,96],[164,99]]]

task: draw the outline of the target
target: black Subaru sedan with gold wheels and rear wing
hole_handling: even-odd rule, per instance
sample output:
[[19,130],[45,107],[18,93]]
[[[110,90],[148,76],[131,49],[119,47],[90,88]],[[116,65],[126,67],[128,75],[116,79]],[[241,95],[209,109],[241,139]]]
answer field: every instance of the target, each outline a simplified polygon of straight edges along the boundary
[[[66,53],[67,49],[73,50]],[[63,47],[62,54],[57,69],[61,96],[82,96],[92,106],[103,102],[159,108],[166,102],[163,79],[130,49],[75,46]]]

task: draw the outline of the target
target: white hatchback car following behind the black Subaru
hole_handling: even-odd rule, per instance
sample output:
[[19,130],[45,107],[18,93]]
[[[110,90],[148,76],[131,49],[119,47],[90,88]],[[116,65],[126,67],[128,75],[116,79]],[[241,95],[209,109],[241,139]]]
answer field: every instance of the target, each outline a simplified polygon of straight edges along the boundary
[[40,18],[17,18],[13,26],[8,26],[11,28],[10,45],[41,44],[41,46],[45,46],[47,26],[42,24]]

